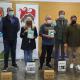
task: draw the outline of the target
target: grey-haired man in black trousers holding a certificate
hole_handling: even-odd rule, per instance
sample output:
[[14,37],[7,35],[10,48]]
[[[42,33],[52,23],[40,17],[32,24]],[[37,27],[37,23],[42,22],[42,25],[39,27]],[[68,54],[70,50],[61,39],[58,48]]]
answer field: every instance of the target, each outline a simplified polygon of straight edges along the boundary
[[[40,67],[42,69],[43,63],[45,61],[46,53],[46,66],[51,68],[50,61],[51,61],[51,54],[54,46],[54,36],[50,36],[48,33],[50,30],[54,30],[52,26],[52,19],[51,16],[47,16],[45,18],[45,23],[41,25],[39,35],[42,37],[42,53],[40,56]],[[53,33],[54,35],[54,33]]]

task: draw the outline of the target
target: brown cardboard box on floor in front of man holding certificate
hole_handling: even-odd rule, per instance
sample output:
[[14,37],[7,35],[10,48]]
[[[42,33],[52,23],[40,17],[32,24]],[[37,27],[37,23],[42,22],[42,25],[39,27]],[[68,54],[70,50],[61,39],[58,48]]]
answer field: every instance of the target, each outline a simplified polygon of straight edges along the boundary
[[54,80],[54,70],[44,70],[44,80]]

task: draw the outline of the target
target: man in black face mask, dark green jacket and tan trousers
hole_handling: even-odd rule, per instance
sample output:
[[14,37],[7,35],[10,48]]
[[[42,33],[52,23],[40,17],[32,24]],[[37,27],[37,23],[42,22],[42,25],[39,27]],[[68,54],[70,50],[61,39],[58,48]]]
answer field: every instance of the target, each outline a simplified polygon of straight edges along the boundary
[[77,17],[71,16],[71,23],[67,27],[65,44],[68,46],[70,69],[76,68],[80,71],[80,25]]

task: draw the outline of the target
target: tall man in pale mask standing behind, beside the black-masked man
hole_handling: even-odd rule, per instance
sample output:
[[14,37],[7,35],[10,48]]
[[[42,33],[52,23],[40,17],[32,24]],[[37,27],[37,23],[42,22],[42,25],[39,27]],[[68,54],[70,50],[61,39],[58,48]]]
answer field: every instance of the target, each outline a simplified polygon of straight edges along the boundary
[[65,12],[63,10],[59,11],[59,18],[56,20],[55,26],[55,62],[54,65],[57,65],[59,59],[64,60],[64,34],[67,27],[67,19],[65,19]]

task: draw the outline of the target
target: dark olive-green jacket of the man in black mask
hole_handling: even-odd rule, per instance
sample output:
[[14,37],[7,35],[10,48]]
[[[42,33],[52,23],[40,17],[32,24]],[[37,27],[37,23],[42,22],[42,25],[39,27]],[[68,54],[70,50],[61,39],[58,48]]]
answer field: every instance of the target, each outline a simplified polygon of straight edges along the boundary
[[67,27],[65,35],[65,43],[68,43],[70,47],[79,47],[80,46],[80,25],[69,25]]

